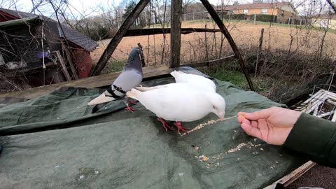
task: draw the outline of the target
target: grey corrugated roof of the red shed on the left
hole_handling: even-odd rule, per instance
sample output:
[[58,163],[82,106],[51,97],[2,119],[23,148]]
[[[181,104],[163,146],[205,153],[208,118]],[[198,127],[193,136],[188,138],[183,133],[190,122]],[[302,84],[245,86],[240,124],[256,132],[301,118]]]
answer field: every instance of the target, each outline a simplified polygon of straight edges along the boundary
[[[43,20],[48,20],[51,22],[56,22],[55,20],[52,20],[51,18],[45,17],[45,16],[41,16],[41,15],[35,15],[32,13],[25,13],[25,12],[21,12],[21,11],[17,11],[17,10],[9,10],[6,8],[0,8],[0,11],[2,11],[3,13],[7,13],[9,15],[13,15],[15,18],[32,18],[32,17],[36,17],[39,16],[41,17]],[[1,12],[0,12],[1,14]],[[12,21],[7,21],[7,22],[12,22]],[[4,24],[4,22],[3,22]],[[76,29],[72,29],[71,27],[67,26],[67,25],[63,25],[62,24],[62,28],[64,30],[64,34],[65,34],[65,38],[69,41],[71,41],[72,43],[80,46],[81,48],[84,48],[87,51],[92,51],[94,50],[94,48],[96,48],[98,45],[95,41],[93,41],[91,38],[85,36],[84,34],[80,34],[80,32],[78,32]],[[61,37],[64,38],[64,34],[62,32],[62,30],[59,28],[59,34]]]

